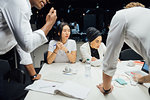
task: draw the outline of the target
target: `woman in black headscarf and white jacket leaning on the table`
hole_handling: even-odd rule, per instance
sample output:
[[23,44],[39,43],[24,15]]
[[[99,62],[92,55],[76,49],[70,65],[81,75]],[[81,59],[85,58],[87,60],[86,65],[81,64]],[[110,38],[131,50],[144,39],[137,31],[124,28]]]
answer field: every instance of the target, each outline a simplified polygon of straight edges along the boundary
[[102,34],[94,27],[87,29],[88,42],[80,47],[82,62],[90,60],[91,65],[100,66],[106,51],[106,46],[102,42]]

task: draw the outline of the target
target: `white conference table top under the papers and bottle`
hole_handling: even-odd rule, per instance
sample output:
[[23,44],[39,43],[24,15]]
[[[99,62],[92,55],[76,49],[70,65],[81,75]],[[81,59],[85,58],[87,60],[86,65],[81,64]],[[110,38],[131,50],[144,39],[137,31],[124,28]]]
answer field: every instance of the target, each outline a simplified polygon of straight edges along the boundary
[[[131,61],[130,61],[131,62]],[[148,88],[143,85],[131,85],[131,79],[124,72],[129,70],[140,70],[141,64],[136,64],[134,67],[128,66],[129,61],[119,61],[117,64],[116,73],[112,79],[114,89],[112,93],[104,96],[96,85],[102,83],[102,67],[91,67],[91,75],[85,75],[85,64],[76,62],[70,63],[53,63],[44,64],[40,74],[42,80],[65,82],[67,80],[76,82],[90,89],[85,100],[150,100]],[[75,74],[64,74],[63,70],[70,67]],[[120,85],[115,81],[115,78],[122,78],[127,82],[127,85]],[[78,100],[62,95],[52,95],[48,93],[36,92],[29,90],[25,100]]]

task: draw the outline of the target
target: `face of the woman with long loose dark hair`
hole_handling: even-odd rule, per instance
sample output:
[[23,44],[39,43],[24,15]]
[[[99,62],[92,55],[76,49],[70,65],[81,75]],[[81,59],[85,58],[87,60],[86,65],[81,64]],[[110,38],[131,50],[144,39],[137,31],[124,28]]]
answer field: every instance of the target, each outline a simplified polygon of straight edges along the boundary
[[61,38],[62,40],[67,40],[70,37],[70,27],[65,25],[62,30]]

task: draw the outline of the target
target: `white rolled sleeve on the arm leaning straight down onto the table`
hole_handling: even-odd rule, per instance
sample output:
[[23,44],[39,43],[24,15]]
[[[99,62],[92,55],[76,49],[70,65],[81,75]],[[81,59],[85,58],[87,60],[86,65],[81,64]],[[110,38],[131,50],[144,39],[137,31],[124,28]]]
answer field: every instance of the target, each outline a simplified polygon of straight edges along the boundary
[[124,43],[125,16],[123,13],[117,12],[110,24],[104,55],[103,71],[109,76],[113,76],[116,71],[119,54]]

